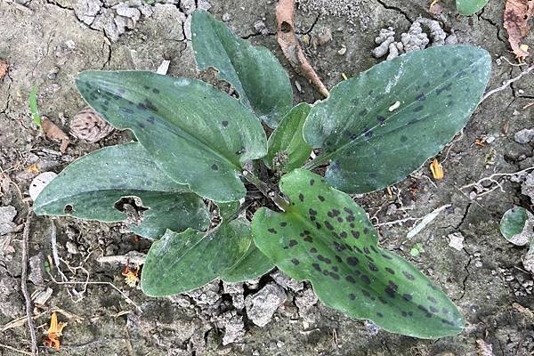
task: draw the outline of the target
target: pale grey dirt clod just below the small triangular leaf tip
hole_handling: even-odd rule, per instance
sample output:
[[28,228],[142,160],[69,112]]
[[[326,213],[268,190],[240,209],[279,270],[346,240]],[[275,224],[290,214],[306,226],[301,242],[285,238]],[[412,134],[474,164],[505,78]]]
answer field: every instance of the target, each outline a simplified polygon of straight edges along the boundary
[[286,301],[284,289],[272,283],[263,287],[255,295],[247,295],[247,317],[258,327],[264,327],[271,321],[278,307]]

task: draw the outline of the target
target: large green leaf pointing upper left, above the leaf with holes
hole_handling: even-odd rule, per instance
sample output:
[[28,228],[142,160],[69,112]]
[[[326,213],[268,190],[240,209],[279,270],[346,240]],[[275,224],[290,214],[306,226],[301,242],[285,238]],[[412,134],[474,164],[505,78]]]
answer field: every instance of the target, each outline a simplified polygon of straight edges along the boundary
[[214,201],[243,198],[247,190],[238,172],[267,153],[257,118],[204,82],[142,71],[85,71],[77,87],[111,125],[132,130],[171,179]]

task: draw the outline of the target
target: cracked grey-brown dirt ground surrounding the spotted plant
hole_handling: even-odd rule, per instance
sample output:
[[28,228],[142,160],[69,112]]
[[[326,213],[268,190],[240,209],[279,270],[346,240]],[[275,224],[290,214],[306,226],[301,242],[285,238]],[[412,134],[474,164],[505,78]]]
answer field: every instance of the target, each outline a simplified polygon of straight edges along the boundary
[[[168,60],[169,75],[193,77],[189,14],[195,6],[208,8],[209,4],[209,11],[224,18],[239,36],[276,53],[294,84],[295,102],[320,99],[279,51],[274,36],[275,1],[182,0],[146,5],[142,9],[147,14],[130,23],[131,28],[125,28],[120,36],[117,28],[88,26],[84,20],[90,20],[82,16],[91,10],[86,4],[100,4],[94,13],[109,15],[118,1],[0,0],[0,57],[10,65],[0,80],[0,206],[13,206],[17,212],[12,232],[0,236],[0,355],[30,350],[26,324],[4,328],[26,315],[20,275],[22,227],[27,204],[31,204],[29,183],[40,172],[60,172],[90,151],[130,140],[128,134],[118,132],[93,144],[75,140],[61,154],[59,143],[45,140],[30,125],[28,94],[32,85],[38,85],[41,114],[68,131],[69,120],[84,106],[74,85],[81,70],[156,70],[161,61]],[[139,7],[142,3],[128,4]],[[440,4],[442,12],[435,19],[446,31],[454,30],[459,43],[479,45],[492,55],[489,88],[521,71],[506,61],[514,62],[514,56],[502,28],[503,1],[490,0],[483,11],[470,17],[457,16],[453,0]],[[428,5],[421,0],[301,0],[296,25],[301,36],[312,38],[322,28],[331,30],[333,39],[327,44],[306,46],[312,66],[331,87],[342,80],[342,73],[351,76],[377,62],[371,50],[380,28],[392,26],[400,36],[419,15],[432,18]],[[534,35],[525,42],[534,48]],[[342,48],[346,53],[338,53]],[[60,354],[64,355],[459,356],[476,355],[483,343],[490,345],[495,355],[534,354],[533,314],[524,309],[534,310],[533,276],[522,268],[526,249],[509,244],[498,229],[508,208],[531,209],[532,202],[522,196],[520,182],[509,180],[503,181],[504,191],[493,190],[475,199],[469,198],[471,190],[459,189],[493,173],[534,166],[534,142],[514,142],[516,132],[534,126],[534,106],[524,109],[533,101],[530,74],[476,109],[464,134],[438,156],[445,171],[442,181],[433,182],[425,165],[392,187],[392,195],[384,190],[356,197],[379,227],[382,245],[416,263],[457,303],[467,323],[462,334],[418,340],[378,331],[362,320],[315,303],[310,286],[287,280],[281,283],[274,273],[245,286],[232,288],[215,281],[188,295],[149,298],[139,288],[125,284],[121,276],[124,265],[97,262],[101,255],[148,251],[150,241],[136,239],[120,224],[55,219],[59,255],[66,262],[61,269],[68,279],[79,282],[57,284],[44,267],[52,255],[51,220],[36,216],[29,226],[28,289],[30,294],[48,287],[53,290],[44,306],[35,310],[42,313],[35,320],[39,352],[54,353],[40,341],[50,311],[61,309],[65,312],[59,313],[60,321],[68,322],[61,338]],[[474,143],[484,137],[490,143]],[[406,237],[414,222],[410,217],[425,216],[444,205],[450,206],[424,231]],[[404,223],[388,223],[402,219]],[[450,247],[450,240],[458,237],[463,237],[463,247]],[[414,247],[418,255],[410,255]],[[55,271],[53,276],[61,280]],[[85,286],[86,278],[108,284]],[[286,299],[260,328],[247,316],[243,299],[254,297],[266,286],[283,290]]]

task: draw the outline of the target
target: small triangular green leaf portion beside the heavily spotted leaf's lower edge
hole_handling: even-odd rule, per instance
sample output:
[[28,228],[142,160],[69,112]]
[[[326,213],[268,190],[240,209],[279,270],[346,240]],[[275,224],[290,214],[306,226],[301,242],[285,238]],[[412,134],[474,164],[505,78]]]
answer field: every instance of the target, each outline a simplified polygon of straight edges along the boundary
[[229,283],[244,282],[262,277],[263,274],[273,268],[274,264],[271,263],[271,260],[266,255],[263,255],[253,241],[241,261],[231,267],[230,270],[225,271],[221,279]]

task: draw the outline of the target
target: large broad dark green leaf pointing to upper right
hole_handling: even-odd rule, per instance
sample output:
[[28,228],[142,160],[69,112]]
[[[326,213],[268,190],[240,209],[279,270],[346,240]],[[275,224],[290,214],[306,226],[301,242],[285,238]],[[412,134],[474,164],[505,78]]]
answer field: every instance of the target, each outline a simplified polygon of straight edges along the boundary
[[476,47],[431,47],[383,61],[336,85],[316,103],[304,140],[331,165],[327,181],[347,193],[400,182],[464,127],[490,77]]

